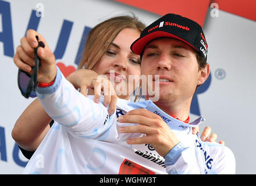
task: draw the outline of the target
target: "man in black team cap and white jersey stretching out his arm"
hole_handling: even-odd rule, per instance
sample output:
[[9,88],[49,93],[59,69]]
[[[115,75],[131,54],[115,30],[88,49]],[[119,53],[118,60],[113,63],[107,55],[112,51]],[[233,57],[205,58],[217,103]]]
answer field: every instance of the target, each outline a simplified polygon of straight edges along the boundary
[[[37,95],[58,123],[25,173],[234,173],[230,149],[191,135],[203,117],[188,124],[193,94],[209,76],[202,28],[190,19],[168,14],[145,28],[131,50],[141,55],[142,74],[159,75],[159,79],[153,77],[153,83],[159,84],[159,100],[155,104],[119,100],[111,117],[104,106],[77,94],[53,63],[41,66],[38,81],[55,81],[52,87],[38,88]],[[58,153],[47,152],[51,146]],[[38,166],[37,155],[43,155],[47,164]]]

